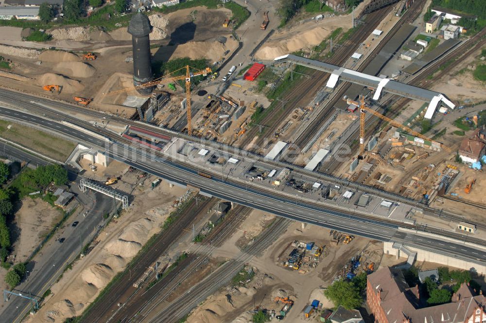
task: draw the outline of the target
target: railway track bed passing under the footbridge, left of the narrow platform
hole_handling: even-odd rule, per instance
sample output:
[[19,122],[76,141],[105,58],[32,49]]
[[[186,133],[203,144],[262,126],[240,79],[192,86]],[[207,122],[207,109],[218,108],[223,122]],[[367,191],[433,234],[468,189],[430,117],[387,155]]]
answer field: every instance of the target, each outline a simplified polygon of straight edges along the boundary
[[[330,59],[326,62],[334,65],[342,65],[353,54],[360,44],[368,37],[376,28],[383,15],[388,14],[390,7],[383,8],[368,14],[364,19],[364,26],[347,39],[342,47],[339,47]],[[287,101],[284,105],[278,101],[273,108],[273,112],[269,113],[261,122],[262,125],[269,126],[268,133],[273,134],[280,124],[287,118],[288,114],[293,111],[295,107],[306,107],[315,93],[320,90],[327,82],[329,74],[321,71],[311,70],[310,79],[302,80],[301,84],[293,87],[286,92],[282,101]],[[275,118],[276,111],[283,110],[279,116]],[[239,143],[240,147],[249,144],[257,135],[258,127],[253,127],[247,131],[242,141]],[[264,141],[264,138],[259,137],[256,146],[258,147]]]

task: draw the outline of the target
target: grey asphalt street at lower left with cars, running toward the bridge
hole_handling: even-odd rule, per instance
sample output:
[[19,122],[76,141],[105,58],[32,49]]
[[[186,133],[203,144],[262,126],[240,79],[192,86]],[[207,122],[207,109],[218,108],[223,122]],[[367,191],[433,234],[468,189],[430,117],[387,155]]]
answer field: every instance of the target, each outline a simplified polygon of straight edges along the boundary
[[[49,163],[38,156],[4,143],[0,143],[0,154],[35,165]],[[17,293],[28,295],[31,292],[33,296],[37,296],[37,299],[39,299],[63,272],[66,265],[79,254],[83,246],[96,232],[97,227],[103,224],[103,215],[115,207],[113,199],[101,193],[87,192],[85,194],[79,192],[80,177],[70,173],[69,179],[73,180],[70,183],[71,190],[85,208],[79,214],[69,217],[65,224],[58,229],[57,234],[66,239],[62,244],[51,238],[27,265],[27,277],[15,288],[14,291]],[[83,216],[85,213],[86,215]],[[79,221],[76,228],[71,227],[74,221]],[[11,296],[8,303],[2,305],[0,308],[1,322],[19,322],[31,308],[29,300],[18,296]]]

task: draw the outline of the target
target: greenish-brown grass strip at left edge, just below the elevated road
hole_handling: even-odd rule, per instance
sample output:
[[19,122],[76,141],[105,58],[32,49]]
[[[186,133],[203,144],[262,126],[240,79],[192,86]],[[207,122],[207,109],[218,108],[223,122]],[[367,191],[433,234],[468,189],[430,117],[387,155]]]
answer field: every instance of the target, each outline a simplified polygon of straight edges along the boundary
[[[8,125],[12,127],[7,129]],[[0,120],[0,136],[58,161],[65,161],[76,146],[47,132],[4,120]]]

